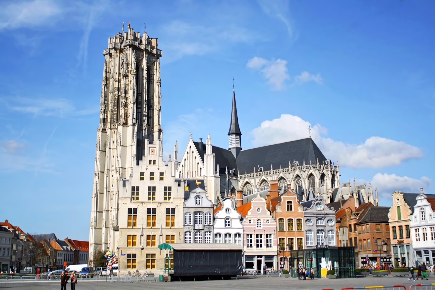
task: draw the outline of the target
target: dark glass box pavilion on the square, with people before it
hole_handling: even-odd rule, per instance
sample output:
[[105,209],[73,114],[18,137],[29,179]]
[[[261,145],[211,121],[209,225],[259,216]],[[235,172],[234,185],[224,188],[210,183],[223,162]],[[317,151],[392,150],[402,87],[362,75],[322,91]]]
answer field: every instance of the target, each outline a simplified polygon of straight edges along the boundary
[[315,270],[315,277],[321,278],[321,258],[326,263],[331,261],[332,269],[337,278],[355,277],[355,248],[354,247],[325,247],[307,250],[290,251],[291,277],[298,277],[296,269],[303,266],[308,270]]

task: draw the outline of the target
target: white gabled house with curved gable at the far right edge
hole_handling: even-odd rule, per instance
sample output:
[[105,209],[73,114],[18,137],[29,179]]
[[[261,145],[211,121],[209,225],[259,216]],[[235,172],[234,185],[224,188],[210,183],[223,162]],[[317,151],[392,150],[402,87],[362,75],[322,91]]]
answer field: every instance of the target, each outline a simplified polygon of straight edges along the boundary
[[432,204],[424,193],[415,198],[414,213],[411,215],[411,238],[415,260],[421,265],[435,263],[435,219]]

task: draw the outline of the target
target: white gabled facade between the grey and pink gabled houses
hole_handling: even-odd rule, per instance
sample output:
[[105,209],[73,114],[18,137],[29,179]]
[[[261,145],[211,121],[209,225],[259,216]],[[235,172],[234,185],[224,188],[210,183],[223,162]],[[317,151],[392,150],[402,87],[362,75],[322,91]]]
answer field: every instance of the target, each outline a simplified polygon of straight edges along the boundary
[[214,214],[214,243],[235,243],[243,246],[241,214],[234,209],[234,200],[225,197]]

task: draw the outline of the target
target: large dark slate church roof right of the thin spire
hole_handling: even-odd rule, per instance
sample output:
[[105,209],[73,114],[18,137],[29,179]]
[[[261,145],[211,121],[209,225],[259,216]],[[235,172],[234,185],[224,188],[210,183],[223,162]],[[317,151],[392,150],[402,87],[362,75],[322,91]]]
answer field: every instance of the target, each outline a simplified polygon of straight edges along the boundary
[[252,173],[258,166],[263,167],[264,171],[273,168],[288,167],[288,163],[297,161],[302,165],[317,164],[317,160],[321,164],[322,161],[327,160],[319,147],[314,143],[311,138],[273,144],[263,147],[257,147],[247,150],[242,150],[237,157],[237,168],[244,174]]

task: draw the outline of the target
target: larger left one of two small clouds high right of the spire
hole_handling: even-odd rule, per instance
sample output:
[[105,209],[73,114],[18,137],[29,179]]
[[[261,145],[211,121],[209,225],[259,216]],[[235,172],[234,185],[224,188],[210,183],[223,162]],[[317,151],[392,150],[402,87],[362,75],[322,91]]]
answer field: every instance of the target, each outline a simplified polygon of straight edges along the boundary
[[285,88],[285,81],[290,79],[287,73],[287,60],[265,60],[261,57],[253,57],[248,60],[246,66],[258,70],[275,90]]

